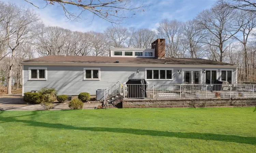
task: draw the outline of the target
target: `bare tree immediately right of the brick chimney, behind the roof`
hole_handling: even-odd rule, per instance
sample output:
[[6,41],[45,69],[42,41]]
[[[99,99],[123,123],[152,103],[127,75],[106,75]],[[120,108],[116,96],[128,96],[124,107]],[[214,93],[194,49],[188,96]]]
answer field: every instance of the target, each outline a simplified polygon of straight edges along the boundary
[[164,19],[157,28],[158,35],[166,39],[166,55],[168,57],[180,57],[183,52],[181,37],[183,23],[177,20]]

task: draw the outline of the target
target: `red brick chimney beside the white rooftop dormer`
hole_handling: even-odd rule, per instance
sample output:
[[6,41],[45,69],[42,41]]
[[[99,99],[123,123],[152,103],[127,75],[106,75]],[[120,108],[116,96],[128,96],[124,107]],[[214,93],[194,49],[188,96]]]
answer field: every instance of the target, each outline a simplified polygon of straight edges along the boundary
[[165,58],[165,39],[156,39],[151,44],[151,48],[155,49],[155,58]]

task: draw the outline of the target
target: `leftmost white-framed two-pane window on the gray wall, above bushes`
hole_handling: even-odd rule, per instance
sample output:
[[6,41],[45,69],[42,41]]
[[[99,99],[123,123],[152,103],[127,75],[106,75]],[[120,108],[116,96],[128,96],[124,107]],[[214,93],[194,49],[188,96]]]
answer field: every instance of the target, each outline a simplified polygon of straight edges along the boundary
[[29,80],[47,80],[47,68],[28,68]]

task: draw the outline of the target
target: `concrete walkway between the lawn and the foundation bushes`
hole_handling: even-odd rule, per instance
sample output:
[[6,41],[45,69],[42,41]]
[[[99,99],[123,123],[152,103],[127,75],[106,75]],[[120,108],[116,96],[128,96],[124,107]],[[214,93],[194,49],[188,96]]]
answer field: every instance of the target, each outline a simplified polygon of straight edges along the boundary
[[[84,103],[83,109],[96,109],[102,103]],[[70,109],[67,103],[57,103],[51,110]],[[44,110],[42,104],[31,105],[23,101],[23,97],[0,97],[1,111],[37,111]]]

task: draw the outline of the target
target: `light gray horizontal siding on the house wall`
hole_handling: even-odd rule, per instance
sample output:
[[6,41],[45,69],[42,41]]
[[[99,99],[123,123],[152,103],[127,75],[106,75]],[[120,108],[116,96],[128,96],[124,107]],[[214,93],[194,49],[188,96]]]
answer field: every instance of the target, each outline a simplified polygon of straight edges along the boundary
[[[47,68],[47,80],[28,80],[29,67],[42,67]],[[84,68],[100,68],[100,80],[83,80]],[[29,66],[24,65],[24,92],[31,90],[39,90],[43,87],[55,88],[58,95],[78,95],[80,92],[89,92],[95,95],[97,89],[105,89],[116,82],[127,82],[129,79],[145,79],[145,69],[151,67],[110,67],[110,66]],[[137,69],[140,70],[136,73]],[[152,67],[157,69],[157,67]],[[164,69],[159,67],[159,69]],[[182,74],[177,71],[185,68],[173,68],[173,80],[151,80],[147,81],[148,84],[181,84]],[[189,68],[192,69],[192,68]],[[208,68],[194,68],[194,69],[208,69]],[[214,69],[214,68],[212,68]],[[220,70],[218,69],[218,79],[220,78]],[[230,69],[230,68],[227,68]],[[202,74],[202,82],[204,83],[204,74]],[[233,69],[233,82],[236,82],[236,69]]]

